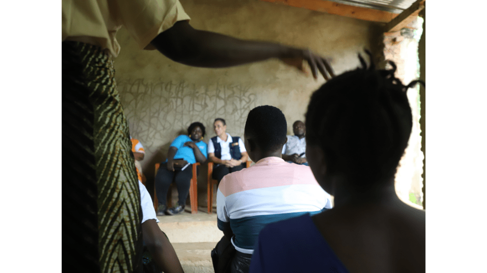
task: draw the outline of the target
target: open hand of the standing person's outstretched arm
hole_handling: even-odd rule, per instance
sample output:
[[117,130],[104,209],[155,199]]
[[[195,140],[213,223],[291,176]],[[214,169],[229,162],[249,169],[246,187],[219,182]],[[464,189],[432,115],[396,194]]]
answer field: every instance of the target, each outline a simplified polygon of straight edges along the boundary
[[313,78],[318,78],[318,71],[326,80],[335,77],[333,68],[324,57],[311,52],[309,49],[289,48],[288,51],[289,52],[285,54],[285,57],[280,58],[285,64],[294,66],[302,71],[305,75],[309,75],[305,66],[303,65],[303,61],[307,61],[311,68]]

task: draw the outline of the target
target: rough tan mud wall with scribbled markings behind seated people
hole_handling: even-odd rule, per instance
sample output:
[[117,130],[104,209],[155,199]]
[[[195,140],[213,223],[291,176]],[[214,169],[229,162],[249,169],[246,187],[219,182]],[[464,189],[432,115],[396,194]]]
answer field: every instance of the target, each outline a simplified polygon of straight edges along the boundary
[[[369,22],[258,0],[181,0],[190,24],[242,39],[271,40],[311,50],[330,58],[335,72],[359,65],[357,53],[369,47]],[[157,51],[140,50],[125,29],[117,39],[116,80],[131,136],[146,149],[142,161],[151,181],[154,163],[165,160],[170,142],[200,121],[205,141],[214,136],[215,117],[227,120],[227,132],[243,136],[249,110],[259,105],[280,108],[292,123],[303,119],[309,97],[323,82],[315,81],[278,60],[225,69],[189,67]],[[206,166],[199,176],[199,203],[205,202]],[[206,202],[205,202],[206,203]]]

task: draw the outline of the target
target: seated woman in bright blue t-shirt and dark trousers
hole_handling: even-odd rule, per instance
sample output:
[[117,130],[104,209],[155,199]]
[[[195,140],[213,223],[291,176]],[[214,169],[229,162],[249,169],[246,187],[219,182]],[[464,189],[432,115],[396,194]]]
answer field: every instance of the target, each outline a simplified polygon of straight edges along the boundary
[[[193,122],[187,128],[187,134],[176,137],[172,141],[168,158],[161,163],[159,170],[154,178],[155,190],[159,206],[157,215],[175,215],[184,210],[186,198],[189,194],[189,186],[193,177],[191,164],[206,161],[206,143],[202,141],[205,137],[205,126],[200,122]],[[166,207],[169,185],[174,180],[178,189],[178,205],[170,208]]]

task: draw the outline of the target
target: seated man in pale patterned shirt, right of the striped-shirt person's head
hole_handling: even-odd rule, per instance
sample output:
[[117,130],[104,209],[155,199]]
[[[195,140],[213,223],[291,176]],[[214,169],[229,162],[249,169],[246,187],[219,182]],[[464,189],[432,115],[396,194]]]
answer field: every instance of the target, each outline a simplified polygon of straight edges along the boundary
[[304,132],[306,126],[301,120],[296,120],[293,123],[294,136],[287,136],[287,142],[282,147],[282,159],[287,162],[296,164],[308,165],[306,161],[306,139]]

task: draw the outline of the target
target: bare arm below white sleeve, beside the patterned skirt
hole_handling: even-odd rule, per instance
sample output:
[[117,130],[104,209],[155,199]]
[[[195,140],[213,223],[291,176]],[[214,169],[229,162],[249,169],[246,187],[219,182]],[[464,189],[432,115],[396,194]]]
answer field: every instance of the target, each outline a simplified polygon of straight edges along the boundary
[[167,273],[184,273],[178,255],[154,219],[142,223],[142,237],[157,266]]

